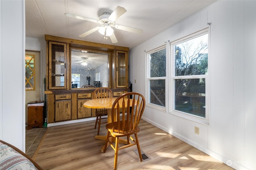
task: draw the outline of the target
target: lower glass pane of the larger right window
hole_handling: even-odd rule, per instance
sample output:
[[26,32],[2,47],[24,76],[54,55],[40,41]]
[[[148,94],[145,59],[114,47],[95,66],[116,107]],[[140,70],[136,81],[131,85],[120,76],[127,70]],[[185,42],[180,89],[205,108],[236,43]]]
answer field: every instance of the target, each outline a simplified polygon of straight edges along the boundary
[[205,117],[205,78],[176,79],[174,109]]

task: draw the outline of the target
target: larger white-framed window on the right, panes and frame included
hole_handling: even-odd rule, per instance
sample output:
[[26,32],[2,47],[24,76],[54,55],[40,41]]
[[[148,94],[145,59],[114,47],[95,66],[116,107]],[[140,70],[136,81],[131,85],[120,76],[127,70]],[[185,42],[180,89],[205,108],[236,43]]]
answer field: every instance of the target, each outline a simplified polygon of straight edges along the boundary
[[170,44],[176,114],[208,123],[208,29]]

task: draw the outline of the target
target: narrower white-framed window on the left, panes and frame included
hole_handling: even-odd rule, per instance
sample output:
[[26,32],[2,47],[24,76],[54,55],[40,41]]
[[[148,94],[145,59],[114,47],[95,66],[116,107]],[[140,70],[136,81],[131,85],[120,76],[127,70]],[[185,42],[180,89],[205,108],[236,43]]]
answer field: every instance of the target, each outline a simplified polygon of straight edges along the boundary
[[166,46],[147,53],[148,104],[166,106]]

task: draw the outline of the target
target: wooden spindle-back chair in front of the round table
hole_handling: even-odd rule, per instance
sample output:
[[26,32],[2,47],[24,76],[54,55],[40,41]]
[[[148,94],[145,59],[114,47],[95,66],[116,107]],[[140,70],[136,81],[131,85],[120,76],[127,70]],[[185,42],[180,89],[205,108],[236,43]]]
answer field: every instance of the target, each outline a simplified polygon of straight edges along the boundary
[[[130,98],[130,96],[132,98]],[[125,100],[127,102],[124,102]],[[119,149],[124,149],[133,145],[137,145],[140,162],[142,162],[142,154],[140,151],[140,144],[138,141],[137,133],[140,131],[138,124],[143,114],[145,105],[146,103],[144,96],[136,92],[128,92],[123,94],[122,96],[118,97],[112,105],[112,122],[106,125],[108,133],[106,137],[104,152],[106,152],[109,143],[112,149],[114,149],[115,151],[114,170],[116,170],[117,167],[117,157]],[[114,120],[114,115],[116,115],[116,121]],[[131,137],[131,135],[134,135],[135,140]],[[116,143],[115,146],[112,144],[112,137],[116,138],[116,140],[113,141]],[[120,137],[127,137],[127,144],[122,147],[118,147],[118,140]],[[130,141],[130,139],[132,140],[132,142]]]

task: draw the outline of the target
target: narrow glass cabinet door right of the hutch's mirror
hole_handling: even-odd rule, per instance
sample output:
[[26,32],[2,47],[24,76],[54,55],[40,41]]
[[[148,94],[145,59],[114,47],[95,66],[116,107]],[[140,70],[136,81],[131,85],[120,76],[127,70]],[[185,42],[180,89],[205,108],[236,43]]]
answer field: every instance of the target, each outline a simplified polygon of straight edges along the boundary
[[116,87],[126,88],[128,85],[127,52],[116,51]]

